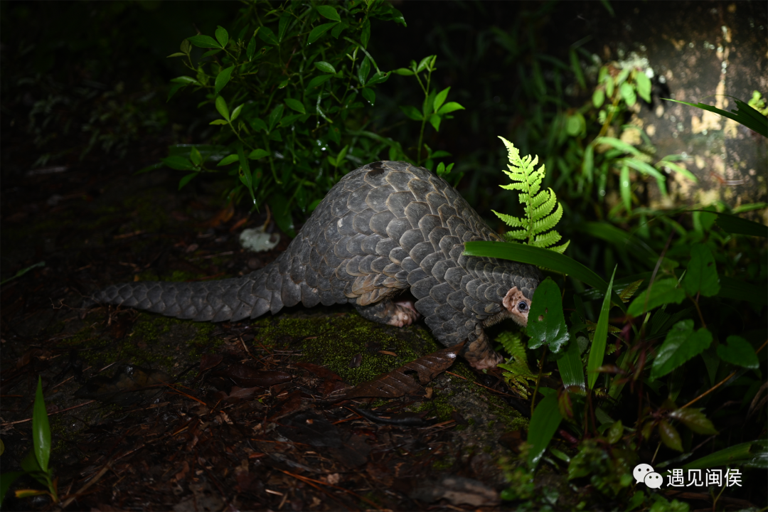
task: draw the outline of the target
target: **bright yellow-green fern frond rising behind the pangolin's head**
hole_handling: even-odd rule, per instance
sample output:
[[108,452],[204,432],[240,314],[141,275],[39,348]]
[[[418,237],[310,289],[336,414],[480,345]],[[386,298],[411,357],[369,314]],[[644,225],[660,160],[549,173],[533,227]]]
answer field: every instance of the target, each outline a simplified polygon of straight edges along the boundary
[[[563,216],[563,206],[558,204],[558,199],[552,189],[541,190],[541,180],[545,177],[545,166],[536,169],[538,156],[531,155],[520,157],[520,151],[504,137],[502,139],[507,147],[509,170],[504,173],[512,180],[508,185],[502,185],[505,190],[518,190],[520,202],[525,204],[525,217],[515,217],[505,213],[493,213],[503,220],[507,226],[520,228],[505,233],[508,240],[527,240],[526,243],[535,247],[544,247],[558,253],[563,253],[568,248],[566,242],[560,246],[554,246],[561,239],[560,233],[554,230],[554,226]],[[557,205],[557,210],[554,210]],[[554,210],[554,213],[552,212]]]

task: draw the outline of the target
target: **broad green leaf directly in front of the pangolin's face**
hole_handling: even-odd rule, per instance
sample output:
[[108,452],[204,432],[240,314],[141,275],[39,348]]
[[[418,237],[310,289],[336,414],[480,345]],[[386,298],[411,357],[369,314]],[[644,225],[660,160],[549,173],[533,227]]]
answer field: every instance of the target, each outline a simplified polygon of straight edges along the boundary
[[570,338],[565,326],[560,288],[549,277],[539,283],[533,294],[527,332],[531,336],[528,348],[547,345],[552,352],[560,352]]

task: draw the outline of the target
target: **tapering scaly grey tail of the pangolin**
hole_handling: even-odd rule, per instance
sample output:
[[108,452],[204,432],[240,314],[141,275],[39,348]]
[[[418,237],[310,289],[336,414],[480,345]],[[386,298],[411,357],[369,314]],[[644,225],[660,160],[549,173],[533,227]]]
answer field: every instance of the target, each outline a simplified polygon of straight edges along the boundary
[[283,309],[282,281],[276,261],[234,279],[112,285],[94,293],[91,300],[200,322],[237,321],[247,317],[255,319],[267,311],[274,314]]

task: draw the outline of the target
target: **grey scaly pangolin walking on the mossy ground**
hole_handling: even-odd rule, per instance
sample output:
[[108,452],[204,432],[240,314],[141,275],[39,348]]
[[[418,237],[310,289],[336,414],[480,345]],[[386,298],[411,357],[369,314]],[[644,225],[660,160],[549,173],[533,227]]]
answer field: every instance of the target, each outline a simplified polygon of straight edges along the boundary
[[[373,162],[347,174],[319,203],[288,249],[247,276],[205,282],[131,282],[94,302],[180,319],[255,319],[283,306],[352,303],[364,318],[409,325],[424,316],[432,334],[475,368],[500,360],[483,328],[528,323],[535,266],[463,256],[471,240],[501,241],[458,194],[429,170]],[[397,301],[409,289],[415,302]]]

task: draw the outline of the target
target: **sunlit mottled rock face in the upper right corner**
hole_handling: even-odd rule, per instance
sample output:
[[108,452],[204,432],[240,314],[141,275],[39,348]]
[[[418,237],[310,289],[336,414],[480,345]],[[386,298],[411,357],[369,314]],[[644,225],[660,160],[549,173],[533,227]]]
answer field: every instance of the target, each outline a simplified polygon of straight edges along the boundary
[[670,199],[654,191],[655,206],[723,201],[736,207],[768,200],[765,137],[717,114],[660,99],[730,111],[733,97],[746,102],[753,91],[768,96],[768,4],[685,0],[615,7],[616,17],[600,24],[595,48],[603,47],[600,57],[607,60],[633,53],[647,59],[656,84],[653,104],[637,109],[631,124],[650,136],[658,158],[684,155],[684,166],[699,180],[671,175]]

